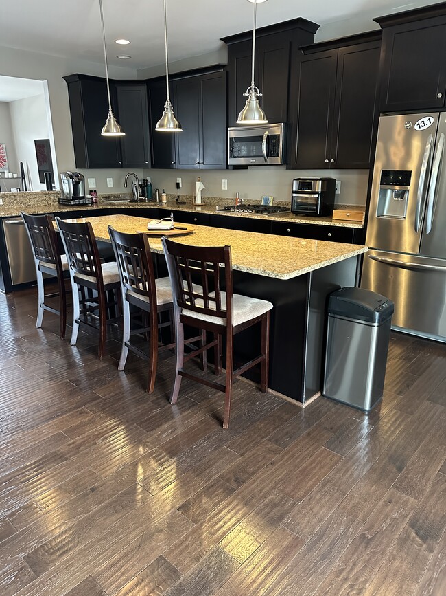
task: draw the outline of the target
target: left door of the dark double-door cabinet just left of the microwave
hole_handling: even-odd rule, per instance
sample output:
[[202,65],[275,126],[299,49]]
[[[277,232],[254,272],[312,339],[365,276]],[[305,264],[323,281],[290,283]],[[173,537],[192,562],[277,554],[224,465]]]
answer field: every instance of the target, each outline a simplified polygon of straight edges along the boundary
[[174,112],[183,132],[176,134],[176,167],[200,168],[200,83],[198,77],[172,82]]

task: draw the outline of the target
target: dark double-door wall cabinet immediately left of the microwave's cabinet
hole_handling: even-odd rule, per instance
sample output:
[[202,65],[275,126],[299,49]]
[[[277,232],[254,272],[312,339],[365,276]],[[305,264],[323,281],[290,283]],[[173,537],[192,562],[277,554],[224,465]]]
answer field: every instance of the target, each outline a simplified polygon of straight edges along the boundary
[[176,133],[176,167],[226,169],[226,72],[174,80],[172,91],[183,127]]

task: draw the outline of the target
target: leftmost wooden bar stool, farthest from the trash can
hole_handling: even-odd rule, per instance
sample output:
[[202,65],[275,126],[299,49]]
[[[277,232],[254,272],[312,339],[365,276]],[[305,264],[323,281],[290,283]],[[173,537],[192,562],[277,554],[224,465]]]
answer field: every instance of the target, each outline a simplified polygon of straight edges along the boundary
[[[67,327],[67,291],[65,289],[64,272],[68,274],[67,258],[60,255],[58,239],[54,230],[53,220],[49,215],[27,215],[21,212],[25,229],[30,239],[36,265],[38,307],[36,327],[42,327],[43,313],[49,311],[60,317],[59,337],[64,339]],[[45,294],[43,274],[57,278],[58,291]],[[47,304],[47,298],[58,296],[59,309]]]

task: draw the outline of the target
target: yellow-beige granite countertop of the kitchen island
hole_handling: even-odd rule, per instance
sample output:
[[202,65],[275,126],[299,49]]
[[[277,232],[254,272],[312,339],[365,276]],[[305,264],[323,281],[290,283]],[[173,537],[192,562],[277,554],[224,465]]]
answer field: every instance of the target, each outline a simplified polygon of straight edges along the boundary
[[[148,219],[130,215],[70,221],[91,221],[95,236],[103,241],[110,241],[108,225],[119,232],[134,234],[146,231],[148,224]],[[297,277],[367,251],[367,247],[355,244],[241,232],[207,225],[191,225],[189,228],[193,229],[192,234],[175,236],[174,241],[196,246],[231,245],[233,269],[278,279]],[[153,252],[163,252],[160,236],[151,236],[149,241]]]

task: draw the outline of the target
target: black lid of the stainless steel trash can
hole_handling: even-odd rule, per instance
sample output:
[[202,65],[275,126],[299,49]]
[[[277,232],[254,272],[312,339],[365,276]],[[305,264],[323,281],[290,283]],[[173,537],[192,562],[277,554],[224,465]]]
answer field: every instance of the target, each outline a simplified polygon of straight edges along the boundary
[[371,323],[383,323],[393,314],[392,300],[361,287],[343,287],[329,296],[329,315]]

